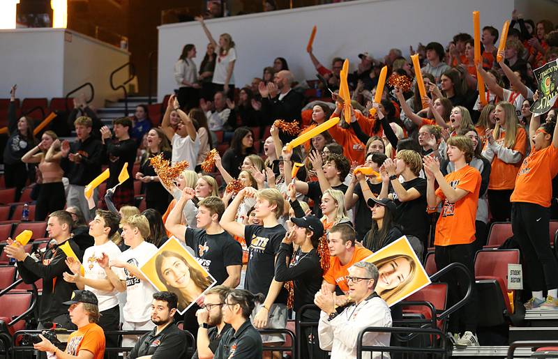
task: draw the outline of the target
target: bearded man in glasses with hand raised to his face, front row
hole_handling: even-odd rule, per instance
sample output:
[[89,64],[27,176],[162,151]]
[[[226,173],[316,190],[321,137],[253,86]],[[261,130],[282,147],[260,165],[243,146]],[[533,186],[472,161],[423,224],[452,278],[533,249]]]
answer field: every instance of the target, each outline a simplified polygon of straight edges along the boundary
[[[230,289],[219,285],[206,291],[203,308],[196,312],[197,323],[197,351],[192,359],[213,358],[221,337],[231,328],[223,321],[223,304]],[[212,327],[212,328],[209,328]]]

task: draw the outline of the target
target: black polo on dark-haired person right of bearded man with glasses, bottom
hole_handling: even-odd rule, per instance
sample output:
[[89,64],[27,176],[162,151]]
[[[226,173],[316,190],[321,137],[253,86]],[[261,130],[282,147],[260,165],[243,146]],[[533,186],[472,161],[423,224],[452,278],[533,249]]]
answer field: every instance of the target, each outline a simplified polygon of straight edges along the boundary
[[262,335],[252,326],[250,319],[246,319],[239,330],[231,328],[223,334],[213,358],[261,359],[263,350]]

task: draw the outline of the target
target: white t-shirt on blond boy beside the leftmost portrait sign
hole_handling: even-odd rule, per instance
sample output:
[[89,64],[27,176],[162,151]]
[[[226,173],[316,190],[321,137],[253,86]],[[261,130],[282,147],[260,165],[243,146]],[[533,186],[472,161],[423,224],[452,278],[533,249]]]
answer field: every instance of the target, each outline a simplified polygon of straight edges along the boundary
[[[120,257],[121,261],[130,263],[140,268],[148,261],[153,253],[157,251],[157,247],[146,241],[134,249],[125,250]],[[126,275],[126,305],[124,305],[124,320],[132,323],[140,323],[151,319],[151,301],[153,301],[153,293],[157,290],[148,281],[139,278],[124,270]]]

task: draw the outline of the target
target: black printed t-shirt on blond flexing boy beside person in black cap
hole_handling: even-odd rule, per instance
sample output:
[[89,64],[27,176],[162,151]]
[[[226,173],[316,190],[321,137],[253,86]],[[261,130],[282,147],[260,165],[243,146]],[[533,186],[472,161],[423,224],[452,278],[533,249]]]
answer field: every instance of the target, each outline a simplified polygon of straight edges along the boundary
[[[248,268],[246,268],[245,288],[254,294],[267,296],[269,285],[275,276],[275,257],[287,231],[281,224],[266,228],[250,224],[244,229],[248,245]],[[248,244],[250,243],[250,244]],[[287,303],[287,291],[282,288],[275,303]]]

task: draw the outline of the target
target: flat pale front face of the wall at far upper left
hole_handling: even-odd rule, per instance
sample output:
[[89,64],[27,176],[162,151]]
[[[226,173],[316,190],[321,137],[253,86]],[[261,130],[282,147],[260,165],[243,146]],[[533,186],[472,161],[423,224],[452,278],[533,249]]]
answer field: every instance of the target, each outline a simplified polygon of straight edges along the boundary
[[0,98],[14,84],[21,99],[63,96],[63,46],[61,30],[1,30]]

